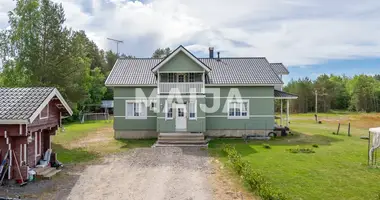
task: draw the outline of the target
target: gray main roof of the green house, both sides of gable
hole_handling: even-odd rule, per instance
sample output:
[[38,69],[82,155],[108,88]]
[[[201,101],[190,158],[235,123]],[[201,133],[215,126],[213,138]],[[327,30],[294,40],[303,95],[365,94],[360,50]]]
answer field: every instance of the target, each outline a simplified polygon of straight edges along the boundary
[[[155,85],[151,69],[162,59],[119,59],[109,74],[106,85]],[[266,58],[200,58],[211,71],[208,84],[283,84]]]

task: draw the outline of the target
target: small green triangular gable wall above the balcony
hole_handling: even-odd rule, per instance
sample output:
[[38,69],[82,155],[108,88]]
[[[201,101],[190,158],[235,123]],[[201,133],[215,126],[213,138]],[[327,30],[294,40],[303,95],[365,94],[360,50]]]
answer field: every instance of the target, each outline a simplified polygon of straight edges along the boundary
[[189,72],[204,71],[204,69],[189,58],[185,53],[179,52],[160,69],[160,72]]

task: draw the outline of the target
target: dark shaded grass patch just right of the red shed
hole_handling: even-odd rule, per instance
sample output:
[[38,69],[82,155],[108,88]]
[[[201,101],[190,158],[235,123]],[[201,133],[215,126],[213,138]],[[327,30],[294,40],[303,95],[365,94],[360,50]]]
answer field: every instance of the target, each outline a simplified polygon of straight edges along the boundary
[[60,144],[54,143],[52,143],[52,148],[57,153],[58,160],[63,164],[88,162],[100,157],[100,155],[83,148],[67,149]]

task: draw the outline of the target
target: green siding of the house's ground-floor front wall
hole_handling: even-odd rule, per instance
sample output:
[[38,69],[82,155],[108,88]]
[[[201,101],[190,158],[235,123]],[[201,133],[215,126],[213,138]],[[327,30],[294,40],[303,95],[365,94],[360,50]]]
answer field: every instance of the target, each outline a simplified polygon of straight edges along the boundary
[[[232,89],[232,90],[231,90]],[[205,132],[217,129],[271,129],[274,124],[274,98],[273,87],[221,87],[220,97],[213,98],[206,94],[206,98],[197,98],[197,120],[187,121],[188,132]],[[141,88],[142,93],[149,97],[155,97],[154,88]],[[152,93],[153,92],[153,93]],[[249,119],[228,119],[227,98],[228,95],[241,95],[243,99],[249,100]],[[165,120],[164,106],[167,97],[161,96],[156,99],[160,112],[155,113],[148,108],[147,119],[125,119],[125,101],[136,96],[135,88],[114,88],[114,128],[115,130],[157,130],[157,132],[175,132],[175,118]],[[270,98],[268,98],[270,97]],[[189,101],[189,97],[183,97]],[[202,109],[206,105],[212,107],[215,102],[220,102],[219,109],[214,113],[206,114]],[[173,113],[175,116],[175,113]],[[157,116],[157,117],[156,117]]]

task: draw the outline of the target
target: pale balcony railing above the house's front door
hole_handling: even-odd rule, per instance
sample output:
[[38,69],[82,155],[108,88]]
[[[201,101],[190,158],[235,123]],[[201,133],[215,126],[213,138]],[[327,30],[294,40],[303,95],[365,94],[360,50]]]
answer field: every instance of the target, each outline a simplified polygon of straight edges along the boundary
[[159,83],[159,93],[204,93],[203,82]]

